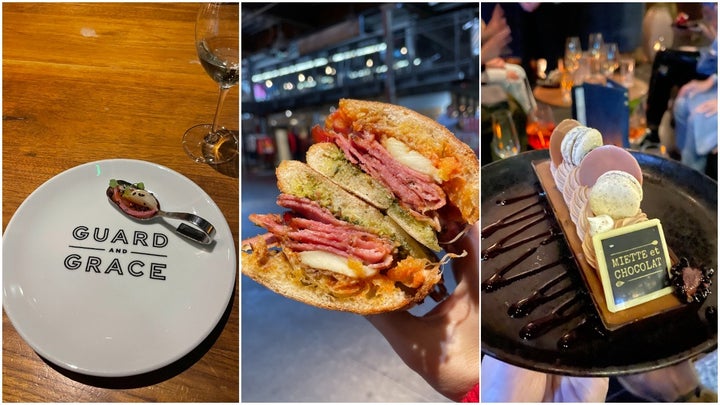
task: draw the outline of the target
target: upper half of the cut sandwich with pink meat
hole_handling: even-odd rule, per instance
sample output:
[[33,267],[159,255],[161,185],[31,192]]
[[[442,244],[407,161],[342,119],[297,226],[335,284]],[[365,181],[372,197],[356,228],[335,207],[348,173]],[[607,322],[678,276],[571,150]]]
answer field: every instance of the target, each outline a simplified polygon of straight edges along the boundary
[[308,151],[311,167],[386,211],[431,250],[479,219],[478,159],[436,121],[400,106],[342,99],[313,135],[332,143]]

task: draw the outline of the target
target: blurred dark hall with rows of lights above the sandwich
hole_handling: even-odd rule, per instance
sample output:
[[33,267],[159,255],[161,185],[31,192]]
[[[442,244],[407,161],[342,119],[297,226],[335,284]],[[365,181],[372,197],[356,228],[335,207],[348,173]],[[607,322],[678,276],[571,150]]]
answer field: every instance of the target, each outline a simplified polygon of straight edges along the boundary
[[451,106],[455,129],[473,142],[477,3],[242,7],[244,168],[302,158],[310,128],[343,97],[400,104],[431,118]]

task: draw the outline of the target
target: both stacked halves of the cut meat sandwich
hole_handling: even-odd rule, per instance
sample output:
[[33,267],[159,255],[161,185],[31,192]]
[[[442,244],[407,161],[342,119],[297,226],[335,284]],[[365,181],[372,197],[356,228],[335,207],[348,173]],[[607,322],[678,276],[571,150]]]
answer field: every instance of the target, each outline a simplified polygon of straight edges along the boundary
[[[243,274],[297,301],[364,315],[441,290],[453,256],[436,254],[479,217],[472,150],[435,121],[376,102],[341,100],[313,131],[329,141],[310,148],[307,164],[276,169],[286,211],[250,215],[268,232],[243,241]],[[399,173],[402,184],[378,171]]]

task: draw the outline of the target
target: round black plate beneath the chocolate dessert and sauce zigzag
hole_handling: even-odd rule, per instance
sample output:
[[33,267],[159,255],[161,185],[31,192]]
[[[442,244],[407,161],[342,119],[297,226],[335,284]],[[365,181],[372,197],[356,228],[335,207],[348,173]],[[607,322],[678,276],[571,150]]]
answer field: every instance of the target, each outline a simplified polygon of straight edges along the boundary
[[[645,153],[633,152],[633,155],[644,175],[642,209],[648,217],[660,219],[668,246],[678,256],[688,257],[696,266],[717,269],[717,183],[677,162]],[[539,201],[540,205],[525,213],[540,210],[544,198],[538,195],[541,188],[531,162],[548,158],[546,150],[532,151],[482,167],[483,228],[534,201]],[[529,197],[506,205],[498,204],[503,199],[521,196]],[[529,236],[542,234],[540,237],[521,242],[481,263],[483,353],[537,371],[610,376],[657,369],[717,347],[716,276],[713,276],[711,295],[701,305],[687,305],[674,313],[607,332],[597,319],[562,235],[548,237],[543,234],[556,226],[554,217],[540,214],[533,218],[539,218],[539,222],[510,238],[506,246]],[[483,236],[482,249],[488,249],[532,221],[528,218]],[[543,240],[547,243],[541,244]],[[522,261],[509,267],[528,251],[530,253]],[[506,279],[520,277],[488,291],[486,282],[507,267]],[[532,271],[536,269],[539,270]],[[544,292],[545,296],[550,296],[547,302],[527,311],[525,316],[513,318],[508,315],[514,303],[556,277],[561,280]],[[542,320],[553,318],[552,311],[558,308],[555,320],[548,321],[549,328],[539,330]],[[521,337],[522,333],[527,333],[530,338]]]

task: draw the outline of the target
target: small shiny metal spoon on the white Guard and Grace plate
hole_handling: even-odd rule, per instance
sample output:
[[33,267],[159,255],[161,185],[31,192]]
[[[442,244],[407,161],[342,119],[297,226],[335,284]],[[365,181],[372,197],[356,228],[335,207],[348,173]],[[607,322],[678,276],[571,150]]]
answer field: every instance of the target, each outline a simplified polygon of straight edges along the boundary
[[[117,180],[118,185],[126,186],[126,187],[132,187],[132,183],[127,182],[125,180]],[[201,243],[203,245],[210,244],[212,242],[212,236],[215,233],[215,227],[205,219],[195,215],[190,214],[187,212],[167,212],[160,209],[160,201],[155,197],[155,195],[149,191],[137,189],[139,192],[142,192],[142,197],[151,199],[150,201],[154,200],[155,207],[157,207],[152,213],[149,213],[147,215],[138,216],[133,215],[132,213],[126,211],[123,209],[123,207],[120,205],[119,201],[115,201],[113,199],[113,196],[115,195],[115,188],[114,187],[108,187],[105,191],[105,194],[108,197],[108,200],[115,206],[120,212],[125,214],[126,216],[137,219],[140,221],[147,221],[151,220],[153,218],[157,217],[165,217],[165,218],[173,218],[173,219],[179,219],[181,221],[185,221],[192,226],[186,224],[185,222],[181,223],[180,226],[176,229],[177,233],[180,235],[191,239],[195,242]],[[152,210],[151,210],[152,211]]]

